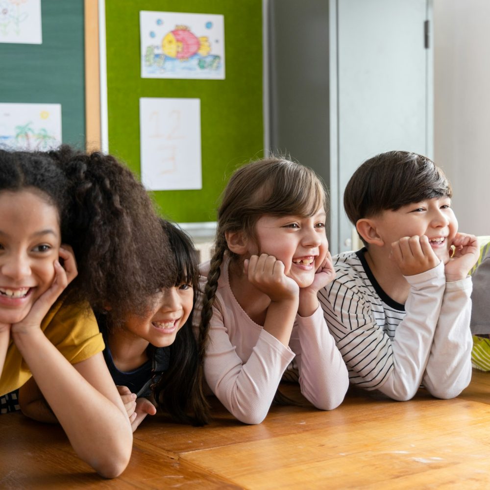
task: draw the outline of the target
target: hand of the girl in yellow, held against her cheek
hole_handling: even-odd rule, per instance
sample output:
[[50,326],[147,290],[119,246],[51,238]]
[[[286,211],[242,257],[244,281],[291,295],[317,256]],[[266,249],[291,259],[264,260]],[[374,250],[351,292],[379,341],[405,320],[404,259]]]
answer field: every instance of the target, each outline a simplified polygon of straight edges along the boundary
[[76,262],[72,247],[63,245],[59,249],[59,255],[63,259],[63,267],[58,260],[54,261],[54,279],[51,286],[37,298],[25,319],[12,325],[12,333],[29,333],[32,329],[39,328],[49,308],[76,277]]

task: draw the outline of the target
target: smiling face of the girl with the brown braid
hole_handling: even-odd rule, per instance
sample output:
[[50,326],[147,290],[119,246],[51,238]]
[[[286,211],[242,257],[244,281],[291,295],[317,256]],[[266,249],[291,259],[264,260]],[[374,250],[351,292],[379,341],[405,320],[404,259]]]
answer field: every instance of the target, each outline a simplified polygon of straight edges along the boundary
[[306,288],[328,251],[325,219],[323,206],[309,217],[264,215],[255,225],[259,247],[252,244],[249,252],[273,255],[284,264],[285,274]]

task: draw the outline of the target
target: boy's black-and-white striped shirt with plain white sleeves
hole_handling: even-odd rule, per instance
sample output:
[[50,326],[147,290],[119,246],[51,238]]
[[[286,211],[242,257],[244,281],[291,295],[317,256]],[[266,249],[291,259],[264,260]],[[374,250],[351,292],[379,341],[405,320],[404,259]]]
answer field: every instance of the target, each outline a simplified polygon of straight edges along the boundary
[[[412,398],[421,383],[431,391],[432,386],[445,386],[452,376],[453,382],[463,385],[466,381],[458,381],[461,373],[457,371],[463,369],[466,379],[471,351],[467,345],[471,280],[448,283],[446,293],[444,266],[439,264],[406,277],[411,289],[402,305],[381,289],[366,262],[365,251],[335,256],[337,276],[318,294],[350,382],[399,400]],[[452,305],[443,302],[446,294]],[[443,323],[440,334],[436,334],[438,322]],[[457,340],[448,341],[449,333]],[[454,359],[449,359],[446,352]],[[443,394],[452,390],[448,388]]]

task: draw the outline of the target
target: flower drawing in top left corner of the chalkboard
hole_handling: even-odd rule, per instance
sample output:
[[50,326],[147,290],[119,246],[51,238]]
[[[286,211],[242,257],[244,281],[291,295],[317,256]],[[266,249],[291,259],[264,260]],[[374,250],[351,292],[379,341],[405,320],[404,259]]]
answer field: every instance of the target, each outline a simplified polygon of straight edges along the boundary
[[42,42],[41,0],[0,0],[0,43]]

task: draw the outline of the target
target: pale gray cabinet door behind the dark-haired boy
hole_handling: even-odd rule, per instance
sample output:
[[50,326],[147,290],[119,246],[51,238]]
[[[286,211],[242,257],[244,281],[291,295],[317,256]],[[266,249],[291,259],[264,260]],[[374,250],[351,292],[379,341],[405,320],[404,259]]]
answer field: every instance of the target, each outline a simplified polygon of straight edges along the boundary
[[[331,247],[343,251],[353,247],[343,190],[355,169],[369,157],[394,149],[432,158],[432,22],[425,23],[432,20],[432,1],[337,0],[335,6],[338,119],[331,177],[338,173],[330,180],[331,187],[337,181]],[[332,168],[335,163],[337,169]]]

